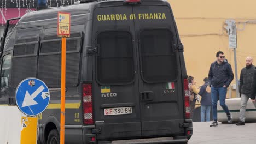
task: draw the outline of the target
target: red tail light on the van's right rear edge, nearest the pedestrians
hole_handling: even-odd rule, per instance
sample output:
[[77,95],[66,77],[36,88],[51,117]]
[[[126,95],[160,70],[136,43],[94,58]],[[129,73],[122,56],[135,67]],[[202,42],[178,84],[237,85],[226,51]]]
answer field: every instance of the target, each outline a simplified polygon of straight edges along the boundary
[[184,105],[185,105],[185,118],[189,119],[190,118],[190,101],[189,101],[189,86],[188,86],[188,79],[184,79],[183,81],[183,87],[184,87]]

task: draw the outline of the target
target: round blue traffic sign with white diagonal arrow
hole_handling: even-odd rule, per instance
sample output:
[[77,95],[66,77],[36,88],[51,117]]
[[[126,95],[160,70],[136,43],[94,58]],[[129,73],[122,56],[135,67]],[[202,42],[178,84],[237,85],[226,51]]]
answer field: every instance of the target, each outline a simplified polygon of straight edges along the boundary
[[16,88],[16,104],[28,116],[42,113],[49,104],[50,92],[45,83],[36,78],[27,78]]

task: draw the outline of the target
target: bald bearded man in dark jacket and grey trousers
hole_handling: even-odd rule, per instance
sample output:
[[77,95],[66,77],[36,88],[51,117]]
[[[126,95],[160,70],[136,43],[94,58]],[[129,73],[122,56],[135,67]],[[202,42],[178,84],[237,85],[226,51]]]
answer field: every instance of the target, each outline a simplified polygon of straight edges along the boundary
[[[246,67],[241,70],[240,73],[240,85],[239,85],[239,93],[241,97],[241,107],[240,107],[240,121],[236,123],[236,125],[245,125],[245,112],[246,105],[249,98],[252,99],[252,87],[253,87],[253,75],[255,67],[252,64],[252,57],[246,58]],[[255,99],[255,98],[253,98]]]

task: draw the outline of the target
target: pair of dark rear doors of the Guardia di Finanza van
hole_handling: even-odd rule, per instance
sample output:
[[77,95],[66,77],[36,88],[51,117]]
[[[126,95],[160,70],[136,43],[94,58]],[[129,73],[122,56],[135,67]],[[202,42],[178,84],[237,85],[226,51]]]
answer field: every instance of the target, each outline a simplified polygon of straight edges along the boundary
[[184,133],[173,16],[161,1],[149,3],[102,2],[94,10],[92,100],[98,140]]

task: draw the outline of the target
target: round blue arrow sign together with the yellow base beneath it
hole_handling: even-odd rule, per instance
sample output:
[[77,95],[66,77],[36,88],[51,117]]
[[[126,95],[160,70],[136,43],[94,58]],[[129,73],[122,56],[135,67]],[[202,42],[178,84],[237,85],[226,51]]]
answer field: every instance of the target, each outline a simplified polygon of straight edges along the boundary
[[[18,109],[28,116],[42,113],[50,102],[49,88],[36,78],[27,78],[19,83],[15,92]],[[37,117],[22,117],[21,144],[37,141]],[[28,139],[28,137],[30,139]]]

